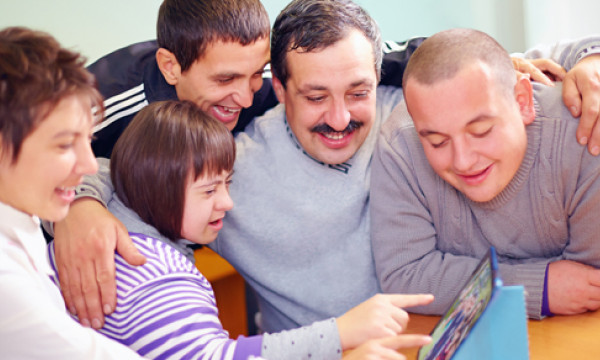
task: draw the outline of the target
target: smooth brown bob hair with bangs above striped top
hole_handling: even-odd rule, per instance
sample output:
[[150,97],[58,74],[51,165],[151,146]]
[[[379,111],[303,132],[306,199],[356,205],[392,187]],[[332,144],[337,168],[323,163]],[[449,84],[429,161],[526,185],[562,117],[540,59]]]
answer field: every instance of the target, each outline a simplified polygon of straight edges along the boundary
[[151,103],[136,114],[111,155],[119,199],[162,235],[181,238],[190,178],[232,171],[235,142],[218,120],[188,101]]

